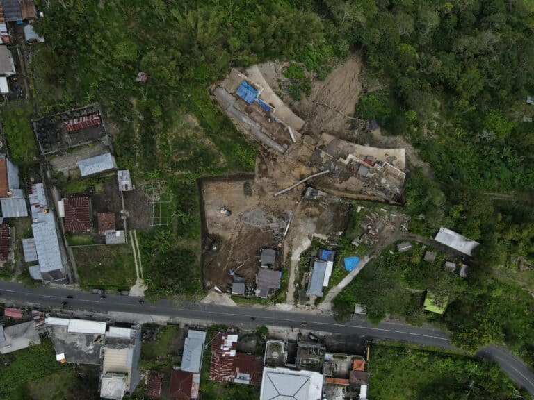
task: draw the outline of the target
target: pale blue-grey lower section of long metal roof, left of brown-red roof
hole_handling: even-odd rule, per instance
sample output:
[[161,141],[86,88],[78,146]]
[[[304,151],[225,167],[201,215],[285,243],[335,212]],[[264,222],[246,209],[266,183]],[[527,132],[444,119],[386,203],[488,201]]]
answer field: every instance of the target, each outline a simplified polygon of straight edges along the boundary
[[39,222],[31,225],[31,230],[41,273],[63,270],[54,215],[42,214],[40,218]]

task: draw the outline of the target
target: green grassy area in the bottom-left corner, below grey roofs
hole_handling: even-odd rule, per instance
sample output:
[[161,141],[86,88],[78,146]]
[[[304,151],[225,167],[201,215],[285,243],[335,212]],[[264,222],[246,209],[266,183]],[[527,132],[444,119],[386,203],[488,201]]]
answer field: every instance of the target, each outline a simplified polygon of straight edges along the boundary
[[[42,340],[37,346],[22,349],[9,354],[0,355],[0,399],[26,400],[25,384],[29,381],[48,381],[45,376],[62,373],[67,378],[64,383],[73,378],[72,367],[56,362],[54,346],[48,339]],[[52,398],[52,397],[50,397]],[[46,397],[40,397],[46,399]],[[63,397],[54,397],[63,399]]]

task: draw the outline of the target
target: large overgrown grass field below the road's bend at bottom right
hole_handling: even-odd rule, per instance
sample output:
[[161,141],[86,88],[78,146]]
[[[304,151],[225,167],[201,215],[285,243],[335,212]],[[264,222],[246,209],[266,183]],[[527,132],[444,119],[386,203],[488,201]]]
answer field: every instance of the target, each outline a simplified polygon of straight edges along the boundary
[[374,344],[369,370],[370,399],[443,399],[444,393],[467,399],[471,393],[472,399],[504,400],[518,393],[495,363],[428,349]]

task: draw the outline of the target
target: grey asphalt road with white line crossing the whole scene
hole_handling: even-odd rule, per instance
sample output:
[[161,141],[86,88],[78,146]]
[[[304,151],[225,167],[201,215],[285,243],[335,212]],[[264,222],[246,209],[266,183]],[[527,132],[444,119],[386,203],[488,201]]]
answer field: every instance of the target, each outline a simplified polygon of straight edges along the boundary
[[[67,299],[72,295],[72,299]],[[342,335],[357,335],[366,338],[381,338],[402,340],[426,346],[454,349],[448,335],[437,328],[418,327],[405,324],[392,324],[382,322],[373,325],[365,319],[354,318],[344,324],[339,324],[329,315],[312,312],[287,312],[266,308],[231,307],[204,303],[173,304],[170,301],[157,303],[139,303],[138,297],[117,296],[106,294],[100,299],[98,294],[79,292],[68,288],[29,288],[20,283],[0,281],[0,299],[6,303],[31,303],[41,307],[60,308],[64,301],[67,307],[75,310],[105,313],[118,311],[144,315],[163,315],[184,319],[197,319],[207,324],[259,324],[271,326],[286,326],[300,328],[306,322],[306,329],[310,331],[323,331],[339,333]],[[254,317],[254,322],[252,322]],[[534,394],[534,372],[519,358],[501,347],[494,345],[480,350],[478,356],[494,360],[503,371],[528,392]]]

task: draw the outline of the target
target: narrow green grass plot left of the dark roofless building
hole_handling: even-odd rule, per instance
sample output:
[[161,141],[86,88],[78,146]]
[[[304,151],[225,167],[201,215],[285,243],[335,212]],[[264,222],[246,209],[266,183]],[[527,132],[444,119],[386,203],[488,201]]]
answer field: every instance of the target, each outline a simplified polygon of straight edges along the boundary
[[11,158],[17,164],[35,160],[39,156],[30,124],[32,115],[33,108],[26,100],[8,101],[2,109],[3,132]]

